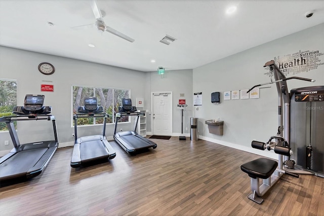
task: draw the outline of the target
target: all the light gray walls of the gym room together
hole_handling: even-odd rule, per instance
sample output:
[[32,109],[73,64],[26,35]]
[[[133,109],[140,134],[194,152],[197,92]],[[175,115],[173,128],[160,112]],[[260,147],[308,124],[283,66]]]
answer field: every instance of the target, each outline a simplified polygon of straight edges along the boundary
[[[131,89],[132,100],[135,101],[136,97],[143,97],[145,105],[141,110],[149,111],[151,111],[151,92],[172,91],[173,135],[181,132],[181,116],[176,105],[179,99],[186,99],[188,109],[184,113],[185,128],[190,129],[190,117],[199,118],[200,138],[253,152],[250,147],[252,139],[265,141],[270,135],[276,133],[277,93],[275,85],[271,85],[271,88],[260,89],[259,99],[224,101],[222,95],[220,104],[212,104],[210,94],[214,91],[223,93],[230,90],[249,89],[256,84],[269,82],[269,78],[264,75],[266,70],[263,65],[276,56],[282,57],[299,50],[324,52],[323,32],[324,24],[320,24],[194,69],[166,70],[163,78],[156,71],[144,73],[0,46],[0,78],[17,80],[18,105],[22,105],[25,94],[45,94],[45,104],[53,106],[53,114],[57,118],[60,143],[73,143],[71,86],[85,85]],[[324,61],[323,56],[320,56],[320,59],[321,62]],[[45,76],[38,72],[38,64],[44,61],[54,64],[56,67],[54,75]],[[289,89],[324,85],[323,65],[296,76],[316,79],[316,82],[289,81]],[[54,92],[41,92],[41,84],[53,84]],[[203,105],[199,106],[198,110],[193,109],[194,92],[203,92]],[[180,97],[180,93],[184,93],[185,97]],[[218,118],[225,122],[223,136],[209,133],[205,124],[205,120]],[[150,120],[148,115],[148,133],[151,132]],[[52,138],[50,126],[47,122],[43,122],[35,127],[39,130],[46,129]],[[35,136],[39,140],[48,138],[47,132],[36,133],[33,127],[26,122],[19,123],[18,135],[22,142],[28,142]],[[128,130],[133,127],[133,123],[125,123],[121,127]],[[80,128],[79,133],[87,135],[97,132],[100,128],[100,126],[83,127]],[[189,130],[184,131],[187,135],[189,132]],[[107,126],[106,135],[108,138],[113,135],[113,125]],[[10,150],[12,142],[8,132],[1,132],[0,136],[0,153]],[[9,146],[4,146],[5,140],[10,140]],[[255,153],[260,154],[260,151]]]

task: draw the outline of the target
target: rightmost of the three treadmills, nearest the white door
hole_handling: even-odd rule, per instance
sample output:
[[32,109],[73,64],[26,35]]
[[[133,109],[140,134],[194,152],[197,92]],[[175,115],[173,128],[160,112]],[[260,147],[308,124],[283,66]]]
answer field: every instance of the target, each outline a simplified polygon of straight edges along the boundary
[[[137,123],[140,116],[144,116],[144,113],[137,112],[135,106],[132,106],[132,100],[130,98],[121,99],[123,106],[118,107],[118,113],[116,114],[115,129],[113,138],[127,153],[134,155],[138,153],[139,150],[144,150],[148,148],[155,149],[157,147],[156,143],[139,135],[136,132]],[[116,133],[117,122],[123,116],[137,116],[134,131],[120,131]]]

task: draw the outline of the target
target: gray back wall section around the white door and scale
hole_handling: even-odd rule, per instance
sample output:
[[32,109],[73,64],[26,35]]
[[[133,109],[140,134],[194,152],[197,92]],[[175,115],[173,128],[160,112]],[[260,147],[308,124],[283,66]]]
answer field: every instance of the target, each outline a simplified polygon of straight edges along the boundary
[[[186,99],[187,110],[183,112],[183,133],[190,134],[190,117],[192,117],[192,69],[166,70],[165,75],[158,75],[157,71],[147,74],[145,100],[150,105],[151,92],[172,92],[173,103],[173,135],[181,134],[181,112],[177,109],[179,99]],[[184,97],[180,97],[183,93]],[[147,130],[151,132],[151,116],[147,119]],[[188,128],[188,130],[185,130]]]

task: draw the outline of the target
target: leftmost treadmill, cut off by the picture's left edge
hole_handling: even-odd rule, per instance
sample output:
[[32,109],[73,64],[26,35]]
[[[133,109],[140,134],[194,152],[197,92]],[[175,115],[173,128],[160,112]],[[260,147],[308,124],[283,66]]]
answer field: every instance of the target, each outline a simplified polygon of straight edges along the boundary
[[[18,178],[35,177],[45,169],[58,148],[55,117],[50,115],[51,106],[43,106],[44,95],[27,94],[24,106],[15,106],[13,114],[5,116],[0,122],[5,122],[9,130],[14,148],[0,158],[0,181]],[[53,123],[54,140],[37,141],[21,145],[14,126],[16,121],[48,120]]]

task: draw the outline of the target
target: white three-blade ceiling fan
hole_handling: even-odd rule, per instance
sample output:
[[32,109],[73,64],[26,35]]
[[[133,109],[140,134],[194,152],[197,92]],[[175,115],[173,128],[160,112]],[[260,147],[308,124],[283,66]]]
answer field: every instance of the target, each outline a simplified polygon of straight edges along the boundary
[[134,42],[135,40],[128,37],[127,35],[107,26],[105,24],[105,22],[103,21],[103,16],[101,14],[101,11],[100,9],[98,8],[98,5],[97,5],[97,1],[96,0],[92,0],[91,1],[91,8],[92,8],[92,11],[97,19],[97,21],[94,23],[94,24],[88,24],[88,25],[81,25],[81,26],[75,26],[75,27],[72,27],[74,29],[76,28],[84,28],[84,27],[89,27],[89,26],[95,26],[101,33],[104,32],[104,31],[108,31],[109,33],[112,33],[114,35],[116,35],[117,37],[119,38],[122,38],[122,39],[125,39],[126,41],[129,41],[129,42]]

